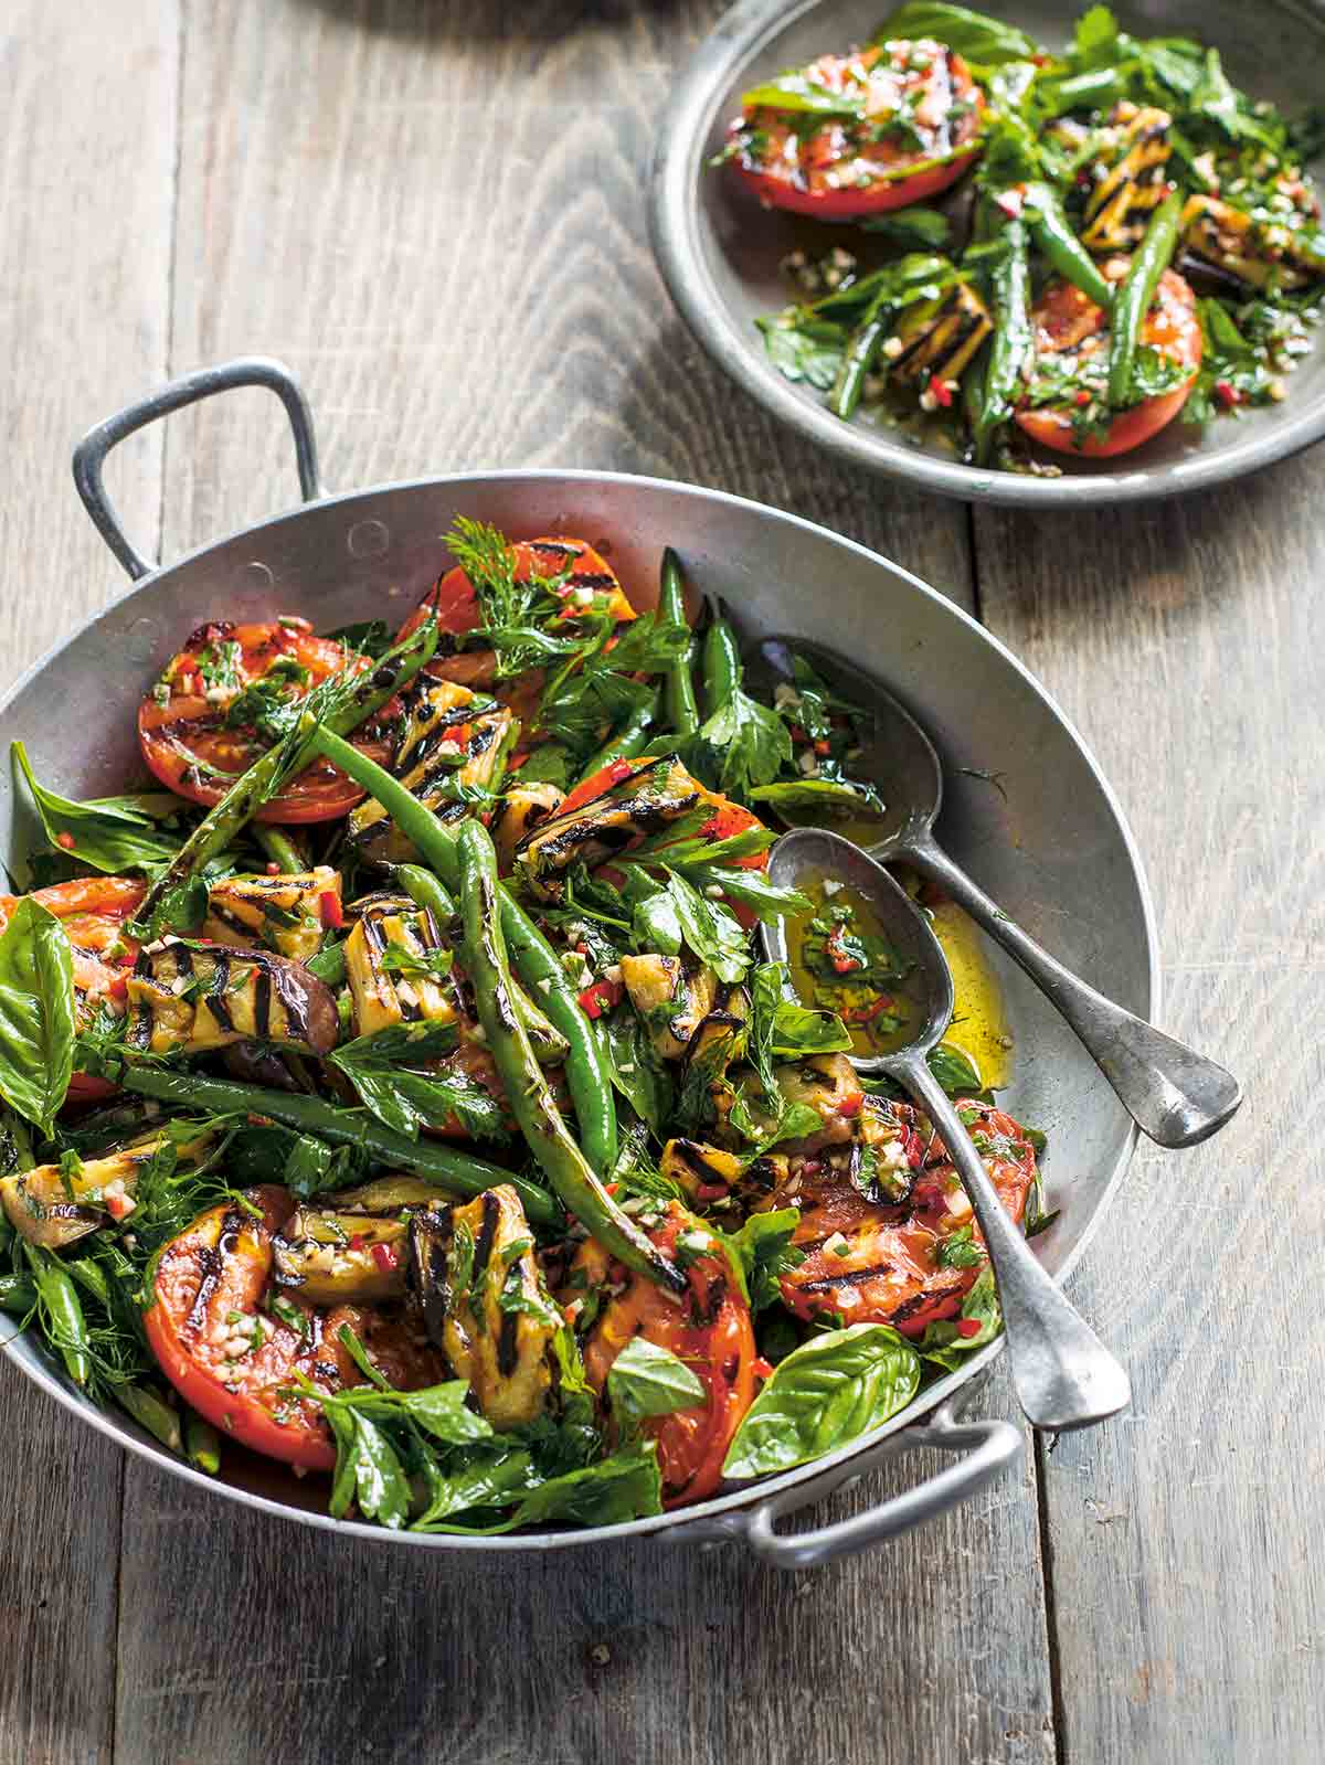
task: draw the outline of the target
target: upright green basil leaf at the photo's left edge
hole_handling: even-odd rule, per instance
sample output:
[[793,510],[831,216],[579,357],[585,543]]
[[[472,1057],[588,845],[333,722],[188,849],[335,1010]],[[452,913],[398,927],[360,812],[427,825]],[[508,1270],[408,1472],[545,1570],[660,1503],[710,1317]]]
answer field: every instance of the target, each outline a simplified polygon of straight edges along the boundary
[[30,897],[0,937],[0,1096],[42,1133],[74,1070],[74,955],[64,927]]

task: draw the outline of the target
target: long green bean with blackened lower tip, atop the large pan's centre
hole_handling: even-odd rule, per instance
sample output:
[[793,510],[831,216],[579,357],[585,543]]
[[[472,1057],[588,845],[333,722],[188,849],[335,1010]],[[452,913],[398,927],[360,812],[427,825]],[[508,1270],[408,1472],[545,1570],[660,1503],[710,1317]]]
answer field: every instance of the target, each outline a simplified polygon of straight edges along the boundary
[[496,1063],[502,1087],[530,1153],[562,1204],[627,1269],[673,1292],[685,1292],[685,1274],[608,1195],[571,1137],[534,1048],[511,1003],[511,960],[502,934],[496,851],[481,821],[458,835],[459,900],[465,927],[465,967],[473,985],[479,1022]]

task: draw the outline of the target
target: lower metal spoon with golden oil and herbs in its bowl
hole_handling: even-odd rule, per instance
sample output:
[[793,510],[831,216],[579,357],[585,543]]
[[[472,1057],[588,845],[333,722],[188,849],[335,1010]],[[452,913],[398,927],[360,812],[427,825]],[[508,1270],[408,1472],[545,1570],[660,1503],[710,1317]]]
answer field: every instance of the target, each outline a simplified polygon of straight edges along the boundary
[[[896,1052],[852,1055],[852,1064],[860,1073],[887,1073],[915,1098],[958,1167],[993,1262],[1012,1386],[1026,1419],[1035,1428],[1065,1430],[1090,1428],[1117,1416],[1131,1403],[1127,1373],[1041,1266],[998,1198],[947,1093],[929,1071],[926,1055],[942,1041],[954,1004],[952,973],[938,939],[889,872],[839,833],[797,828],[772,847],[768,881],[777,888],[823,877],[859,890],[885,939],[910,964],[908,988],[919,1029]],[[760,935],[768,960],[788,960],[781,920],[765,921]]]

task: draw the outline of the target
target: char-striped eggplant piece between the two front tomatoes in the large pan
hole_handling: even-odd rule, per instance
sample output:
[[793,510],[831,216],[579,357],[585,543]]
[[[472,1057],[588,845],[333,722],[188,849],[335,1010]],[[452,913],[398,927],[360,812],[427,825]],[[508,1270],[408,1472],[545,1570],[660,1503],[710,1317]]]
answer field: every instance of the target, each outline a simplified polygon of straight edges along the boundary
[[470,1382],[493,1428],[535,1421],[548,1401],[548,1350],[560,1329],[509,1184],[410,1221],[410,1283],[433,1343]]

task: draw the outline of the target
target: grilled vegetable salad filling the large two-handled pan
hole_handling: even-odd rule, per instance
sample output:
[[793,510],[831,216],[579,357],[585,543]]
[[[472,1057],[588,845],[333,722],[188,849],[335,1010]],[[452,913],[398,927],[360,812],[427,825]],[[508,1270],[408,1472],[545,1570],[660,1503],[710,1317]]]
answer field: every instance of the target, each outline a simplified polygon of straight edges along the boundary
[[[394,635],[194,632],[150,789],[78,801],[16,745],[0,1306],[207,1472],[604,1525],[848,1442],[998,1303],[942,1142],[846,1057],[905,969],[767,875],[781,810],[878,810],[862,713],[802,662],[749,692],[671,552],[640,611],[583,540],[447,545]],[[760,960],[783,916],[822,995]],[[1035,1135],[936,1070],[1037,1214]]]

